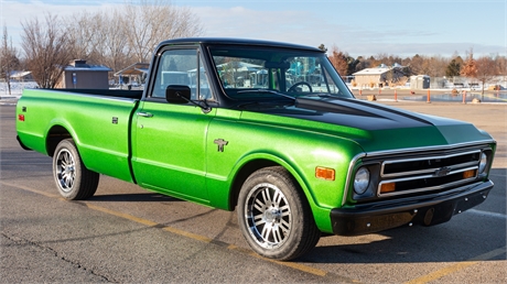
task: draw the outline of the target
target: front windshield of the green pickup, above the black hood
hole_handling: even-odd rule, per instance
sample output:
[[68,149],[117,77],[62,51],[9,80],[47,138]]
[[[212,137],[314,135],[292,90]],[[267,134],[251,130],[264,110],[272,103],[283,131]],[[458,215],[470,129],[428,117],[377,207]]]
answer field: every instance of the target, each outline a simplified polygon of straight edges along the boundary
[[271,98],[280,94],[353,97],[324,53],[259,46],[213,46],[209,51],[222,87],[230,98]]

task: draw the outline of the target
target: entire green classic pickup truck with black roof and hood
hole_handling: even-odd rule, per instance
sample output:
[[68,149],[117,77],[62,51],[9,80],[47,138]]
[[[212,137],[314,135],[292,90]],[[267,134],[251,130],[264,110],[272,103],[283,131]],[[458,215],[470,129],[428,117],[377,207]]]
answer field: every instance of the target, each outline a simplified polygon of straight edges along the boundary
[[470,123],[354,98],[319,48],[231,39],[162,42],[143,90],[24,90],[17,130],[67,199],[104,174],[236,210],[278,260],[450,220],[487,197],[496,150]]

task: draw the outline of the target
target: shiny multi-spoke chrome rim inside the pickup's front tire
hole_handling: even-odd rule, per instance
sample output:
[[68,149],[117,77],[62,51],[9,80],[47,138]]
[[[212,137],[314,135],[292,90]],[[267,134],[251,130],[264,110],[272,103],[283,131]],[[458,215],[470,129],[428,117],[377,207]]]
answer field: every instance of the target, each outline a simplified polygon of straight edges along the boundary
[[249,233],[265,249],[282,245],[291,233],[292,214],[289,201],[272,184],[259,184],[250,190],[245,218]]

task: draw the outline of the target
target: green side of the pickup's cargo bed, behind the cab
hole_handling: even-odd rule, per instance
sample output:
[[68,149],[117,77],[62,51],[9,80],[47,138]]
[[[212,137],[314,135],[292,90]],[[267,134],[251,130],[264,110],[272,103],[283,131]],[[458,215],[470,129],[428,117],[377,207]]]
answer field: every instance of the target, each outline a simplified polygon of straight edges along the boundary
[[132,182],[130,123],[141,96],[141,90],[26,89],[17,107],[23,116],[18,135],[47,155],[56,146],[52,136],[72,136],[87,168]]

